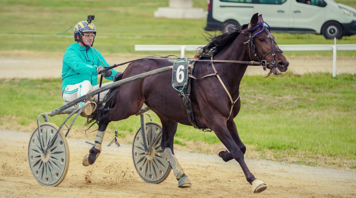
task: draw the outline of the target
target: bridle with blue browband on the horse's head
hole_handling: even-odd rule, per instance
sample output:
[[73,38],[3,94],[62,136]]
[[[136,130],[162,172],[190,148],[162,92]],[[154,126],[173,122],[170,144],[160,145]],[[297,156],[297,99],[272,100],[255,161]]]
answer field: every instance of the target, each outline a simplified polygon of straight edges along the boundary
[[[267,31],[267,28],[265,28],[265,26],[263,25],[263,23],[265,23],[268,26],[268,31]],[[251,32],[253,30],[256,30],[258,27],[262,27],[262,30],[257,32],[257,33],[255,33],[255,34],[253,34],[253,36],[251,36]],[[255,41],[253,41],[253,38],[255,38],[257,34],[263,32],[263,31],[265,31],[267,33],[268,37],[271,39],[271,50],[269,50],[266,53],[263,53],[261,51],[261,49],[257,47]],[[273,39],[273,37],[271,35],[271,32],[270,32],[270,27],[265,21],[261,21],[261,22],[257,23],[257,25],[255,27],[253,27],[253,28],[251,28],[251,23],[249,23],[247,32],[248,32],[248,40],[246,42],[244,42],[244,44],[246,44],[246,43],[248,44],[248,57],[250,57],[250,59],[251,59],[251,50],[250,49],[252,48],[253,56],[255,56],[257,58],[258,62],[260,62],[260,64],[261,64],[263,70],[266,71],[267,70],[266,69],[267,68],[267,63],[271,63],[271,64],[276,63],[274,61],[275,52],[283,53],[283,51],[281,49],[279,49],[276,41],[274,41],[274,39]],[[241,33],[244,33],[244,31],[242,31]],[[274,45],[276,47],[274,47]],[[258,50],[258,52],[260,52],[262,54],[262,56],[263,56],[262,59],[260,59],[260,57],[258,57],[258,55],[256,53],[256,49]],[[268,55],[271,52],[272,52],[272,61],[271,62],[269,62],[269,61],[267,62],[265,60],[265,57],[266,57],[266,55]]]

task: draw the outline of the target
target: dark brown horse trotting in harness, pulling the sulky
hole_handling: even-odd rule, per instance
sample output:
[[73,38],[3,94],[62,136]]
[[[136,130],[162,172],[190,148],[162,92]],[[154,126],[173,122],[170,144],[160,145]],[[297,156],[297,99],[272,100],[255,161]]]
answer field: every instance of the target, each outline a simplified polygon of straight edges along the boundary
[[[274,37],[265,27],[262,15],[254,14],[249,24],[222,34],[211,35],[209,43],[199,49],[199,60],[194,65],[190,100],[199,128],[211,129],[225,147],[215,148],[224,161],[235,159],[241,166],[253,192],[259,193],[267,185],[257,180],[245,161],[246,146],[242,143],[234,117],[239,113],[241,102],[239,86],[247,69],[248,61],[258,61],[269,74],[279,75],[289,65]],[[257,49],[257,50],[256,50]],[[214,62],[215,60],[215,62]],[[217,61],[217,60],[226,60]],[[236,63],[236,60],[246,61]],[[234,62],[235,61],[235,62]],[[122,79],[154,69],[171,66],[162,59],[140,59],[130,63]],[[203,77],[215,73],[219,74]],[[99,128],[95,145],[83,159],[83,165],[93,164],[101,152],[101,141],[106,127],[112,121],[129,118],[140,111],[143,103],[157,114],[162,123],[161,148],[164,150],[179,187],[191,187],[191,182],[174,155],[173,140],[178,123],[192,125],[188,119],[182,96],[172,88],[172,73],[167,71],[143,79],[122,84],[109,91],[105,106],[96,118]]]

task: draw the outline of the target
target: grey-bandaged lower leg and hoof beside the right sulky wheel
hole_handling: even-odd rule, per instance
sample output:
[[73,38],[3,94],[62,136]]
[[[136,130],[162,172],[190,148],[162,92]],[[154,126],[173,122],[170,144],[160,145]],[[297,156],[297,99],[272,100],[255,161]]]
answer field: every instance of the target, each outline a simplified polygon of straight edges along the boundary
[[183,167],[180,166],[176,156],[172,154],[171,149],[166,148],[164,149],[163,152],[164,155],[166,155],[168,162],[172,167],[174,176],[176,176],[178,180],[178,187],[180,188],[192,187],[192,183],[190,182],[188,176],[184,174]]

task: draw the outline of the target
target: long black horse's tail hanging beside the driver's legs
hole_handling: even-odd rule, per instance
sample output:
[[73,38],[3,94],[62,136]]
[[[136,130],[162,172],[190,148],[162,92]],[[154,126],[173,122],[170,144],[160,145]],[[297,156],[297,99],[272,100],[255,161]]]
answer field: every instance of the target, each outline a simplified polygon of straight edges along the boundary
[[[115,76],[115,78],[114,78],[114,82],[121,80],[122,79],[122,75],[123,75],[123,73],[117,74]],[[94,118],[88,118],[87,124],[85,124],[85,126],[86,126],[86,125],[89,125],[90,123],[93,123],[88,127],[88,129],[90,129],[90,127],[92,127],[95,123],[99,124],[100,114],[101,114],[101,111],[103,111],[103,109],[108,109],[108,108],[114,108],[115,107],[117,95],[119,93],[119,88],[120,88],[120,86],[111,88],[108,91],[108,93],[105,94],[104,100],[100,101],[97,104],[95,117]]]

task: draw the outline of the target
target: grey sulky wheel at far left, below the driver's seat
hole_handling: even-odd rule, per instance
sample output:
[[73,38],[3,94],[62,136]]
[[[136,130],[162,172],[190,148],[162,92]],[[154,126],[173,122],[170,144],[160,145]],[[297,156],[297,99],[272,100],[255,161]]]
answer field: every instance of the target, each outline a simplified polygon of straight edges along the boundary
[[43,155],[41,144],[42,148],[46,149],[57,133],[58,127],[53,123],[45,122],[40,124],[40,129],[40,134],[38,129],[35,129],[28,143],[28,164],[38,183],[43,186],[58,186],[66,177],[69,167],[67,139],[62,132],[59,132],[47,154]]

